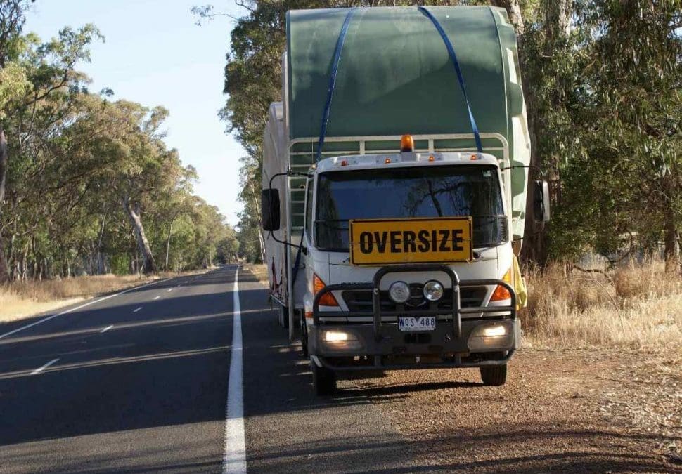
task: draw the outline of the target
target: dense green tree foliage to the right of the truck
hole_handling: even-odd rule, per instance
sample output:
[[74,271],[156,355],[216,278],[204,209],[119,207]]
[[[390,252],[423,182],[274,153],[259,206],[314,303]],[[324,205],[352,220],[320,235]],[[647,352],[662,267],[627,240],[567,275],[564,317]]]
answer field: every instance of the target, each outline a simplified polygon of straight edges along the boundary
[[[678,1],[582,1],[567,35],[530,44],[538,152],[560,185],[551,255],[674,255],[682,227],[682,39]],[[536,25],[534,34],[551,31]],[[527,50],[525,52],[529,54]],[[535,67],[533,69],[532,67]],[[624,236],[638,236],[631,239]]]

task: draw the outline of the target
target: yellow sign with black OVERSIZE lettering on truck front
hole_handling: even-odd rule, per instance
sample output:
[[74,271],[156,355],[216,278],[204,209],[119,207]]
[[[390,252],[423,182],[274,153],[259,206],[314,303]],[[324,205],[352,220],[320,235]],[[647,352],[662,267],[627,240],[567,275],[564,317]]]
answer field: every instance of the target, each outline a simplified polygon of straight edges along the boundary
[[472,259],[471,218],[351,220],[354,265],[468,262]]

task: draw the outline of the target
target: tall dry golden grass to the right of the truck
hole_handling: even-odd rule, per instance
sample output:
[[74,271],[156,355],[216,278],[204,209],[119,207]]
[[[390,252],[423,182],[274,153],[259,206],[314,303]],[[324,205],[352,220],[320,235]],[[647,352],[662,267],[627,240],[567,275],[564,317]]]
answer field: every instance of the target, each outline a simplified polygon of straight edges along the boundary
[[551,265],[527,272],[525,331],[569,346],[672,350],[682,357],[682,278],[661,261],[631,263],[605,274]]

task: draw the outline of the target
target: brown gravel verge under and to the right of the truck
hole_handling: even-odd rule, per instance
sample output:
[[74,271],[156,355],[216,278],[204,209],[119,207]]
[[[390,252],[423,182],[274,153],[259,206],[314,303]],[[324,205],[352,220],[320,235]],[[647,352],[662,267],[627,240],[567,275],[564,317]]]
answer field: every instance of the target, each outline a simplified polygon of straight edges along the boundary
[[417,470],[682,472],[675,354],[520,350],[503,387],[477,369],[345,381],[411,439]]

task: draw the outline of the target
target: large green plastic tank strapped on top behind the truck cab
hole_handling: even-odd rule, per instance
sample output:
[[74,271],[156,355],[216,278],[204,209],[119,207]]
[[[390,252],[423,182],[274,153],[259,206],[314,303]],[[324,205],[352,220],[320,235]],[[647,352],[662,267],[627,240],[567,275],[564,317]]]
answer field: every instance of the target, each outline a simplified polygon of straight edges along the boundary
[[[480,132],[499,133],[508,142],[512,164],[527,165],[529,140],[516,36],[506,11],[488,6],[428,8],[456,51]],[[290,140],[319,136],[335,46],[348,11],[288,12]],[[443,39],[418,8],[357,8],[342,48],[326,136],[403,133],[472,133],[452,62]],[[473,140],[442,147],[448,145],[475,147]],[[292,150],[310,150],[310,145],[299,146]],[[326,144],[326,150],[334,146]],[[499,146],[496,140],[484,140],[484,148]],[[491,152],[502,157],[500,150]],[[304,161],[309,159],[310,155]],[[515,169],[515,235],[522,235],[526,183],[527,169]]]

